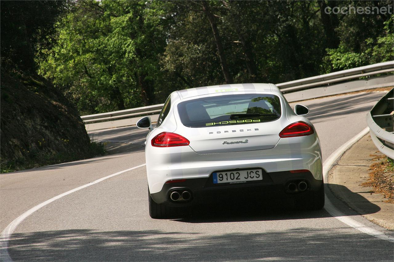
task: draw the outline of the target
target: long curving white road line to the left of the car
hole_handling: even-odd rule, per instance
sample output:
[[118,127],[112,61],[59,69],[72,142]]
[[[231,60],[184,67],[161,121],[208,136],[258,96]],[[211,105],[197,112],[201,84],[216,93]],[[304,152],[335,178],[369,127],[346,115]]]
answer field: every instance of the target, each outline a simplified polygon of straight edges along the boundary
[[69,190],[67,192],[64,192],[63,194],[60,194],[60,195],[58,195],[56,197],[52,197],[51,199],[48,199],[45,202],[43,202],[43,203],[41,203],[39,205],[36,205],[35,207],[30,208],[29,210],[24,212],[22,215],[20,215],[19,217],[15,218],[15,220],[13,220],[11,223],[9,223],[9,225],[7,225],[7,227],[1,233],[1,236],[0,236],[0,239],[1,239],[1,242],[0,242],[0,260],[3,261],[3,262],[5,262],[5,261],[12,261],[11,257],[8,254],[8,251],[7,251],[8,241],[9,241],[9,239],[11,237],[11,234],[15,231],[17,226],[25,218],[27,218],[28,216],[33,214],[35,211],[39,210],[41,207],[45,207],[49,203],[52,203],[53,201],[55,201],[55,200],[57,200],[57,199],[59,199],[59,198],[61,198],[63,196],[67,196],[67,195],[69,195],[71,193],[74,193],[74,192],[76,192],[78,190],[81,190],[83,188],[86,188],[88,186],[95,185],[95,184],[97,184],[97,183],[99,183],[101,181],[104,181],[104,180],[108,179],[108,178],[114,177],[115,175],[120,175],[121,173],[125,173],[127,171],[130,171],[130,170],[133,170],[133,169],[136,169],[136,168],[140,168],[141,166],[146,166],[146,164],[142,164],[142,165],[139,165],[139,166],[134,166],[132,168],[129,168],[129,169],[126,169],[126,170],[114,173],[112,175],[108,175],[106,177],[102,177],[100,179],[97,179],[96,181],[90,182],[89,184],[86,184],[86,185],[74,188],[74,189]]

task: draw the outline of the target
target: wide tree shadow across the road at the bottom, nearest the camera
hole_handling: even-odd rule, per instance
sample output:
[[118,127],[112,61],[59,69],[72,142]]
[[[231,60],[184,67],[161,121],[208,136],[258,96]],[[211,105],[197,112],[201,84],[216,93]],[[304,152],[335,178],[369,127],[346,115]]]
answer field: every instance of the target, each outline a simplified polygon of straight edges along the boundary
[[390,242],[353,232],[299,227],[210,235],[71,229],[13,234],[8,251],[15,261],[393,260]]

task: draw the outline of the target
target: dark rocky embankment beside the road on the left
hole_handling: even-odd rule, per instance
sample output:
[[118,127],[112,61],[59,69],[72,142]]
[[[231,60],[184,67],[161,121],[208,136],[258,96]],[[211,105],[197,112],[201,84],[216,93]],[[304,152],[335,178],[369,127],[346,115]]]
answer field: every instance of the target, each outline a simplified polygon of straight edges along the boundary
[[75,107],[43,77],[2,69],[0,89],[1,172],[84,159],[102,151],[90,142]]

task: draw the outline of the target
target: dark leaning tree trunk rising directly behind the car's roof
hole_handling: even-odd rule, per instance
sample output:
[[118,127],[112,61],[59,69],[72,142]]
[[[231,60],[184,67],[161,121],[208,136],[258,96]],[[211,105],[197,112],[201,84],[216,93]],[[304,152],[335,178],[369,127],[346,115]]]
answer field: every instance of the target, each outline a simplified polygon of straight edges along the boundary
[[217,54],[219,55],[220,65],[222,68],[223,76],[226,81],[226,84],[232,83],[232,76],[229,72],[229,67],[227,65],[226,56],[223,51],[223,46],[220,39],[219,31],[217,30],[217,25],[215,21],[215,17],[212,14],[209,5],[206,1],[202,1],[201,4],[203,5],[203,11],[208,17],[209,23],[211,24],[212,33],[214,34],[214,39],[217,47]]

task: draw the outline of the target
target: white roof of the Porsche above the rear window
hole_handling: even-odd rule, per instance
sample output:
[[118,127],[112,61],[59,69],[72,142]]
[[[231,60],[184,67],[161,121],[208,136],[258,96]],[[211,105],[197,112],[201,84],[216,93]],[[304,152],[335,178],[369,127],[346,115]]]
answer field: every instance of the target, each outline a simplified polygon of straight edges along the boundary
[[180,100],[193,96],[201,96],[205,94],[217,94],[225,92],[239,91],[263,91],[263,92],[279,92],[279,88],[273,84],[262,83],[246,83],[246,84],[227,84],[227,85],[211,85],[208,87],[196,87],[175,91],[178,93]]

